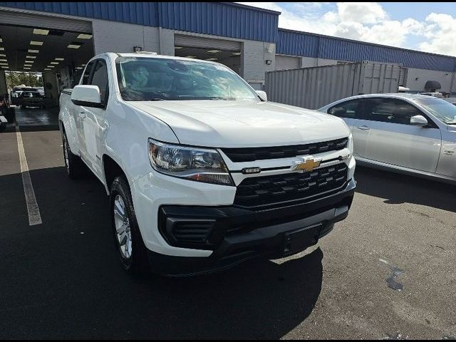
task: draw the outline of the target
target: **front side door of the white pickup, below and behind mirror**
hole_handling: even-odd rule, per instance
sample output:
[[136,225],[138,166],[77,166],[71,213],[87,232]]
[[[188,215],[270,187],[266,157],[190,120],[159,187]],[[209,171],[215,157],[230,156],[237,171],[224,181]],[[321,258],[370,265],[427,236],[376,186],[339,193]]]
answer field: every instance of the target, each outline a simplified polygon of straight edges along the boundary
[[109,80],[108,68],[104,59],[97,59],[93,61],[90,78],[87,84],[98,86],[100,90],[101,104],[103,108],[85,107],[81,106],[79,113],[81,123],[81,136],[84,144],[83,154],[86,158],[86,163],[101,179],[103,178],[103,163],[102,157],[102,144],[105,128],[107,127],[106,121],[106,105],[109,98]]

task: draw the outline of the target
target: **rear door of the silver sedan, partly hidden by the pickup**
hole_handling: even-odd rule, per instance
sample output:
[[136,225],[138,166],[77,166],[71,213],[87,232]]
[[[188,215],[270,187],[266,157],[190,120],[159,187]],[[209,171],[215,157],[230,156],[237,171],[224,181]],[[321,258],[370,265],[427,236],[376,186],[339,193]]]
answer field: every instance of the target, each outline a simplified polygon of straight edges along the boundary
[[353,152],[358,156],[366,155],[367,133],[363,120],[363,98],[338,103],[328,109],[328,114],[343,119],[353,135]]

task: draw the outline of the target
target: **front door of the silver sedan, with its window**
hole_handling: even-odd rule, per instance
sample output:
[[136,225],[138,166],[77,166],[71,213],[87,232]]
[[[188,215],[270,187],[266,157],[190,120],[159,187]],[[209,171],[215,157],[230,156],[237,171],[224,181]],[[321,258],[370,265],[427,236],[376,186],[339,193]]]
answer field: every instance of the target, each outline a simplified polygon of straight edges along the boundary
[[[435,172],[440,154],[440,129],[425,113],[397,98],[366,98],[367,145],[363,157],[414,170]],[[423,115],[426,127],[410,125]]]

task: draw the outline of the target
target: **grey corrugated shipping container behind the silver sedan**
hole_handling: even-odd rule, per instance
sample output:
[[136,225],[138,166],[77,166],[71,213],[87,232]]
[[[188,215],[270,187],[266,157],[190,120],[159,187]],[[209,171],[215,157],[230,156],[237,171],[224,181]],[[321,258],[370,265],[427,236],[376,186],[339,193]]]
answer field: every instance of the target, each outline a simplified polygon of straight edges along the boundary
[[264,90],[271,101],[318,109],[352,95],[397,93],[406,73],[397,64],[369,61],[269,71]]

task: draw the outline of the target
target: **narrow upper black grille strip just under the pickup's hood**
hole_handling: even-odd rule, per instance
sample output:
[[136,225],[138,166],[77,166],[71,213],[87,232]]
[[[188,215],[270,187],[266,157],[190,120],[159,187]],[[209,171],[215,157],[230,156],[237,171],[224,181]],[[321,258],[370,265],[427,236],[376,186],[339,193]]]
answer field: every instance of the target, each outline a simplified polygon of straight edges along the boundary
[[297,155],[314,155],[316,153],[342,150],[347,146],[348,138],[315,142],[307,145],[222,148],[232,162],[254,162],[255,160],[296,157]]

